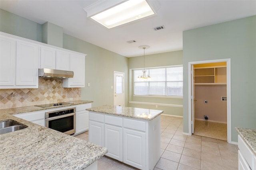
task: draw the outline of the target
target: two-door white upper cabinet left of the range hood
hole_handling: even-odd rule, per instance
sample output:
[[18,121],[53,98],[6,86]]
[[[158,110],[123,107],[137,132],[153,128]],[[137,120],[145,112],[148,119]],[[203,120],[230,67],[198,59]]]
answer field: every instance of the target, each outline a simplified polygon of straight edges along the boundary
[[38,44],[0,33],[0,88],[38,88]]

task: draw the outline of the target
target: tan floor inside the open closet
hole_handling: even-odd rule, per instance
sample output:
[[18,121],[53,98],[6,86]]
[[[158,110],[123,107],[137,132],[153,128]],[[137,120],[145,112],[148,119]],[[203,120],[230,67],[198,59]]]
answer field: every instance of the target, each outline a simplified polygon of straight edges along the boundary
[[195,124],[194,135],[227,141],[227,124],[200,120]]

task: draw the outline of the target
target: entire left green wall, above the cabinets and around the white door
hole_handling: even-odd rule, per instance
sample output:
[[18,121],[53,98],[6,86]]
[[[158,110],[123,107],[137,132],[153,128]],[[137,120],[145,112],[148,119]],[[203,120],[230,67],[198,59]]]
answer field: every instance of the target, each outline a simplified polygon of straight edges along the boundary
[[[42,25],[4,10],[0,10],[0,12],[0,31],[42,42]],[[125,93],[128,94],[127,57],[67,34],[63,34],[63,48],[87,54],[85,58],[86,87],[81,89],[82,100],[94,101],[93,107],[113,105],[114,91],[111,86],[114,85],[114,71],[125,73]],[[90,83],[90,87],[87,86],[88,83]],[[125,98],[125,106],[127,105],[128,95]]]

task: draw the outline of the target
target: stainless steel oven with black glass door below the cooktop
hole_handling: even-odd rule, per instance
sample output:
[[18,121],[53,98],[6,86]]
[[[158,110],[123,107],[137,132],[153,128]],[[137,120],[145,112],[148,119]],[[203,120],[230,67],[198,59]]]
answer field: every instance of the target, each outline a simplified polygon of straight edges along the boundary
[[73,135],[76,132],[76,107],[46,112],[46,127]]

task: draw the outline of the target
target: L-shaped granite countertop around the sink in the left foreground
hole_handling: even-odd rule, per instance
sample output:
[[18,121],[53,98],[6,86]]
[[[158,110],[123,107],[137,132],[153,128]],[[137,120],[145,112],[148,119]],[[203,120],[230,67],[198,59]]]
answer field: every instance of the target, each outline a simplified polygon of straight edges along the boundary
[[[81,102],[78,102],[78,104],[83,103]],[[108,149],[104,147],[12,115],[23,113],[25,110],[36,111],[34,110],[34,106],[0,110],[0,121],[12,119],[27,126],[25,129],[0,135],[1,170],[80,170],[86,168],[108,152]],[[14,113],[14,111],[17,112]]]

